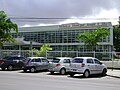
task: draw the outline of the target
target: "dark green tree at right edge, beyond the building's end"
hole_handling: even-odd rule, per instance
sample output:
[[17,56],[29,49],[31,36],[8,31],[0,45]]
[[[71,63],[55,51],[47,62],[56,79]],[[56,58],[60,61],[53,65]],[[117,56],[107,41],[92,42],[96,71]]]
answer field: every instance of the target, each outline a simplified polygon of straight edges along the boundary
[[120,52],[120,20],[113,26],[113,44],[117,52]]

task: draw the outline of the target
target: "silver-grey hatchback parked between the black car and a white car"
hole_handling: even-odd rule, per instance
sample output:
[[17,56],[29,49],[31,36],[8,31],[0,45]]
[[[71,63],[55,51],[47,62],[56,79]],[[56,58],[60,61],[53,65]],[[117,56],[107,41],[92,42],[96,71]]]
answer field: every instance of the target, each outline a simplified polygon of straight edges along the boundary
[[36,72],[38,70],[48,70],[49,61],[44,57],[28,57],[23,68],[24,72]]

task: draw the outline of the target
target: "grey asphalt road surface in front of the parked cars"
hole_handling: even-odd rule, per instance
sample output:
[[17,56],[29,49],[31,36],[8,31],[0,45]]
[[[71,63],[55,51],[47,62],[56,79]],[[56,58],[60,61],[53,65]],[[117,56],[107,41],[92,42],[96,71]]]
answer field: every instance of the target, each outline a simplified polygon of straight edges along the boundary
[[[108,73],[113,74],[111,70]],[[37,73],[24,73],[22,70],[0,71],[1,90],[119,90],[120,78],[110,75],[91,76],[84,78],[76,75],[71,78],[69,75],[55,73],[51,75],[47,71]]]

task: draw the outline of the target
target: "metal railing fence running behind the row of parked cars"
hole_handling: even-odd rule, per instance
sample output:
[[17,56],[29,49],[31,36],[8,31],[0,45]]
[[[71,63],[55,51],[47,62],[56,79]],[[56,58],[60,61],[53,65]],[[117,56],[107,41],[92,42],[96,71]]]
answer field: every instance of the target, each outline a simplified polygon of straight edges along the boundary
[[[40,51],[39,51],[40,52]],[[32,50],[1,50],[1,58],[11,55],[20,55],[24,57],[36,56],[35,51]],[[102,60],[111,60],[114,56],[113,52],[80,52],[80,51],[46,51],[45,57],[96,57]]]

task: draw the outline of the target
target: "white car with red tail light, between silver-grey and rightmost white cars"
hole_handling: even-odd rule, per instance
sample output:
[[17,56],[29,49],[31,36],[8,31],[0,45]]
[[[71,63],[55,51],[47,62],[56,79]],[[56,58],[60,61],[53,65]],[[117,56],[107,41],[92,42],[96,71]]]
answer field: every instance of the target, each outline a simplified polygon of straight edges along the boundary
[[53,74],[54,72],[59,72],[60,74],[65,74],[71,63],[70,57],[56,57],[50,62],[48,70]]

